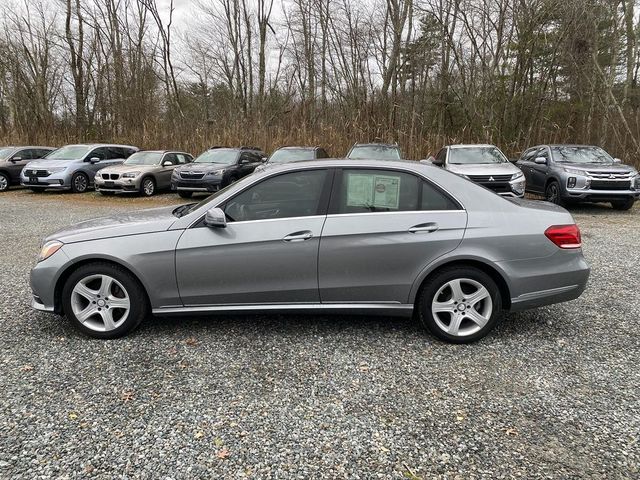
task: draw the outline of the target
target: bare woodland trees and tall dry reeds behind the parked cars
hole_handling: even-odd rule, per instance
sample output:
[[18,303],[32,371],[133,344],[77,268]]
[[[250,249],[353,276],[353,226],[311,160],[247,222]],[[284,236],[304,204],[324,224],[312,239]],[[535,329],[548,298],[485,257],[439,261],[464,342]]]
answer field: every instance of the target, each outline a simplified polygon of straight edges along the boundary
[[0,142],[599,144],[640,160],[635,0],[16,0]]

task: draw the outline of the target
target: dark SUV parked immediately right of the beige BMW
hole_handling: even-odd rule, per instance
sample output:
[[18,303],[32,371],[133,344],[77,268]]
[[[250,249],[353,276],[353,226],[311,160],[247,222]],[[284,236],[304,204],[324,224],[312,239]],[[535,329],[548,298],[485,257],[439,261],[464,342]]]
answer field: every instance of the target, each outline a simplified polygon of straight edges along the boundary
[[189,198],[194,192],[215,192],[253,173],[266,159],[257,147],[211,147],[173,171],[171,190],[177,190],[182,198]]

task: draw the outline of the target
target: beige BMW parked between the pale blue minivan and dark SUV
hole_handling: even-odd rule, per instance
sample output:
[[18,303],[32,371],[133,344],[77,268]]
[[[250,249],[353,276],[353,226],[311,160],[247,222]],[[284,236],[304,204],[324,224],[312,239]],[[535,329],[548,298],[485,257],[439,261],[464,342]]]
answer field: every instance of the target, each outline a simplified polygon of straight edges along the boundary
[[171,174],[193,157],[185,152],[145,150],[136,152],[122,165],[103,168],[95,178],[96,190],[103,195],[139,193],[146,197],[171,189]]

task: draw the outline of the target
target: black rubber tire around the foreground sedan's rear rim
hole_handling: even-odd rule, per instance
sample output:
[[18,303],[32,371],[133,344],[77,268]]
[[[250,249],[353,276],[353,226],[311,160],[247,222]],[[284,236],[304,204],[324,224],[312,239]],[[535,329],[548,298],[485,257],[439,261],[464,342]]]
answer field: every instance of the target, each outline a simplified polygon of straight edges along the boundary
[[[493,303],[491,318],[480,331],[473,335],[457,337],[448,334],[438,327],[431,312],[431,304],[437,291],[445,283],[455,280],[456,278],[469,278],[471,280],[475,280],[481,283],[491,295],[491,301]],[[422,325],[439,339],[450,343],[471,343],[485,337],[491,330],[493,330],[501,317],[501,313],[502,298],[500,295],[500,289],[489,275],[474,267],[450,267],[435,273],[433,277],[425,283],[422,291],[420,292],[418,301],[418,315]]]

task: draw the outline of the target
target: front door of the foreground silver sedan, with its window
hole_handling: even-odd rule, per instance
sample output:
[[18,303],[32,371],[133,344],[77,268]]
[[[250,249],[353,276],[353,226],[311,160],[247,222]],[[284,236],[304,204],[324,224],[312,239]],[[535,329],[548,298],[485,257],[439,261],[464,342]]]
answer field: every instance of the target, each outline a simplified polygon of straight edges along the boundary
[[331,174],[269,177],[225,202],[226,228],[187,229],[176,247],[184,305],[319,303],[318,247]]

